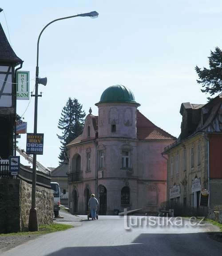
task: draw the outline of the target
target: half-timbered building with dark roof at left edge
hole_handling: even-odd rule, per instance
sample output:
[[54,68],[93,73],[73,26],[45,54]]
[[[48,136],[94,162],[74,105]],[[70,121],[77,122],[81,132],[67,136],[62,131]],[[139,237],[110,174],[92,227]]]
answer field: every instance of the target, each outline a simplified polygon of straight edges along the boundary
[[[0,24],[0,159],[13,156],[16,148],[16,70],[23,61],[16,56]],[[19,68],[16,66],[20,65]],[[14,143],[13,143],[14,139]],[[14,149],[14,151],[13,151]]]

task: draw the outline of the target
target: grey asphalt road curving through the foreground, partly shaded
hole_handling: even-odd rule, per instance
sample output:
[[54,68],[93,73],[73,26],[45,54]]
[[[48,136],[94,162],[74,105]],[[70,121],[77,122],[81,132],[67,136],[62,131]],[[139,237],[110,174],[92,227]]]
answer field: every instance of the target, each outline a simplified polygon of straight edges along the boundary
[[[75,228],[40,236],[28,243],[4,252],[2,256],[220,256],[222,243],[210,239],[206,232],[218,229],[208,224],[197,226],[189,220],[183,224],[173,219],[133,216],[127,222],[123,216],[86,216],[63,213],[62,223]],[[79,220],[82,220],[79,222]],[[136,223],[137,220],[137,223]],[[145,222],[147,221],[147,223]],[[156,221],[156,224],[154,223]],[[154,225],[155,224],[155,225]],[[182,224],[182,226],[180,226]],[[195,226],[192,226],[194,225]],[[134,225],[134,226],[133,226]]]

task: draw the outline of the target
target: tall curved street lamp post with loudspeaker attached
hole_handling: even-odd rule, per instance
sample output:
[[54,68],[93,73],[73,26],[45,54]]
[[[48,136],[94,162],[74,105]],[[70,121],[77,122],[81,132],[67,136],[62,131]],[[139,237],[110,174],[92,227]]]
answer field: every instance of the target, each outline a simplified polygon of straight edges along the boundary
[[[40,37],[44,30],[52,23],[58,21],[58,20],[65,20],[70,19],[74,17],[91,17],[91,18],[97,18],[99,16],[98,12],[87,12],[82,14],[77,14],[73,16],[63,17],[56,20],[52,20],[49,22],[40,32],[40,35],[38,37],[37,42],[37,61],[36,61],[36,89],[35,89],[35,112],[34,112],[34,133],[37,133],[37,108],[38,108],[38,85],[44,84],[46,85],[47,79],[46,78],[39,78],[39,43],[40,43]],[[38,231],[38,220],[37,220],[37,211],[36,211],[36,154],[33,154],[33,164],[32,164],[32,206],[29,211],[29,220],[28,220],[28,230],[29,231]]]

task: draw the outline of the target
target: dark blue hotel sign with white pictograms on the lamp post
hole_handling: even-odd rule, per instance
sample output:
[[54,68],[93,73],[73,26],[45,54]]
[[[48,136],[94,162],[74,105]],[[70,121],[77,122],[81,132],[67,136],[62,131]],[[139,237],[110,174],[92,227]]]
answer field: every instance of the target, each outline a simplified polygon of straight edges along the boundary
[[44,133],[27,133],[26,153],[27,154],[43,154]]

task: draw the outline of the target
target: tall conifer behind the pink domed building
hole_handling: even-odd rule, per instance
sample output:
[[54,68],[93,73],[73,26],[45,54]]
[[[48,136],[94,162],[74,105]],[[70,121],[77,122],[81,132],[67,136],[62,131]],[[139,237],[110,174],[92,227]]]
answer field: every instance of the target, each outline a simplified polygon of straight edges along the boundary
[[77,99],[72,100],[70,97],[67,100],[66,105],[63,107],[61,117],[59,119],[58,128],[62,130],[62,135],[58,136],[61,147],[59,154],[59,164],[67,163],[65,146],[78,137],[83,132],[84,120],[86,116],[82,110],[83,105],[79,104]]

